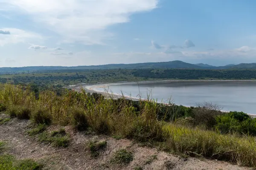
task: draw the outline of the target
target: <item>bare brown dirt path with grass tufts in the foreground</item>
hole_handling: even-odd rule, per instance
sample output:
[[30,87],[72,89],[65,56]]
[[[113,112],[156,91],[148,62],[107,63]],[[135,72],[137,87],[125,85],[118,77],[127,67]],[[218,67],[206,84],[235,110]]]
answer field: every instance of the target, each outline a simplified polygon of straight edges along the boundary
[[[1,115],[4,116],[3,114]],[[0,125],[0,140],[8,144],[7,152],[18,159],[31,158],[44,164],[45,170],[250,170],[222,161],[188,158],[158,151],[155,148],[140,147],[139,144],[126,139],[113,139],[109,136],[75,132],[71,127],[65,127],[72,142],[67,148],[56,148],[50,144],[42,144],[34,137],[26,134],[30,122],[12,119]],[[51,126],[49,130],[59,127]],[[106,140],[107,148],[96,159],[90,156],[86,143],[91,140]],[[118,149],[127,149],[134,153],[134,160],[128,165],[118,165],[110,162],[113,153]],[[150,160],[152,157],[155,159]]]

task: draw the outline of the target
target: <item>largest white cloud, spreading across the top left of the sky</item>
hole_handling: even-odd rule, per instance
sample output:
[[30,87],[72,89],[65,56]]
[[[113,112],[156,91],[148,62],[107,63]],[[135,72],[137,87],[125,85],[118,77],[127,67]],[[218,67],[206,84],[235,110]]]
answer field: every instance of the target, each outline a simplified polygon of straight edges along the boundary
[[1,0],[5,11],[25,14],[62,42],[102,44],[108,26],[129,21],[131,14],[157,8],[159,0]]

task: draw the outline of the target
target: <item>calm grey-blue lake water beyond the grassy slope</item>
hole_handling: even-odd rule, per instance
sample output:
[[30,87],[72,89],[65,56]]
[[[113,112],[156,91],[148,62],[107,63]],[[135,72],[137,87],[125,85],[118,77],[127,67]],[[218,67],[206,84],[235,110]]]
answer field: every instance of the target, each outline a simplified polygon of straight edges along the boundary
[[157,102],[171,100],[177,105],[197,106],[205,102],[217,104],[224,111],[256,114],[256,81],[167,81],[113,83],[90,86],[94,91],[108,91]]

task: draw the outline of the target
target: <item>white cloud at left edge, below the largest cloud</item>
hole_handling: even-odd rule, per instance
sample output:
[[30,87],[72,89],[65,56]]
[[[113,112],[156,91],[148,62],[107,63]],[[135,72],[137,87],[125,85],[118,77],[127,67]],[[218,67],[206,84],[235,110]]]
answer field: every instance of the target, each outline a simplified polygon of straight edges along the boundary
[[10,31],[12,34],[9,34],[8,36],[4,34],[0,34],[0,46],[6,45],[6,44],[17,44],[20,42],[26,42],[28,43],[31,40],[38,40],[43,39],[40,35],[24,31],[16,28],[3,28],[2,31]]

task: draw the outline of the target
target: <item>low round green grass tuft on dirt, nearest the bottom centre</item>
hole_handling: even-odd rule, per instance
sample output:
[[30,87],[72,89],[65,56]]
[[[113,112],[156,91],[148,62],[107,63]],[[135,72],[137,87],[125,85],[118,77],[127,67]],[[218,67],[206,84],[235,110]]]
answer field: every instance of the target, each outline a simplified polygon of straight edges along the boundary
[[125,149],[120,149],[114,153],[111,162],[115,164],[128,164],[133,161],[133,158],[134,156],[132,152],[129,152]]

